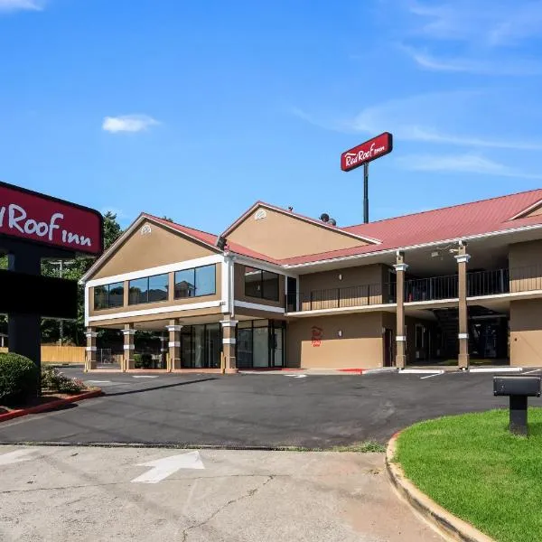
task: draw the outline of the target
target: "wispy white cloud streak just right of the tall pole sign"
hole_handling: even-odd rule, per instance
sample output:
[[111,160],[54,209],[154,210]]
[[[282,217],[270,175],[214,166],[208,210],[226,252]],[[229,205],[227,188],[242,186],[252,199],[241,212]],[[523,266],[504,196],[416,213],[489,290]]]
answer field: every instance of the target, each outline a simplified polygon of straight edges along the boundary
[[542,179],[542,175],[524,173],[480,154],[410,154],[396,160],[403,168],[416,172],[479,173],[500,177]]

